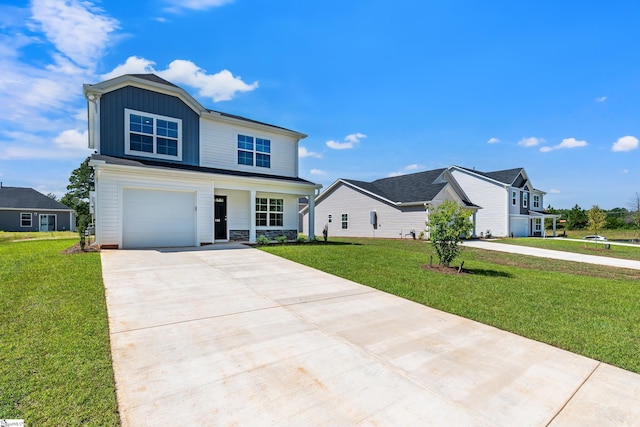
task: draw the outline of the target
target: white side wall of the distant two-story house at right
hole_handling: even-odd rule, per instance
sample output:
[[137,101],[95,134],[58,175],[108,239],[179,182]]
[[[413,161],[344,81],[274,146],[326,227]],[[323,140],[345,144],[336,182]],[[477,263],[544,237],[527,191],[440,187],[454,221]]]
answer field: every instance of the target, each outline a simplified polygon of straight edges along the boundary
[[507,236],[509,234],[507,203],[511,203],[511,194],[507,194],[502,185],[493,181],[471,176],[457,169],[451,172],[471,203],[482,207],[476,214],[477,234],[491,230],[494,236]]

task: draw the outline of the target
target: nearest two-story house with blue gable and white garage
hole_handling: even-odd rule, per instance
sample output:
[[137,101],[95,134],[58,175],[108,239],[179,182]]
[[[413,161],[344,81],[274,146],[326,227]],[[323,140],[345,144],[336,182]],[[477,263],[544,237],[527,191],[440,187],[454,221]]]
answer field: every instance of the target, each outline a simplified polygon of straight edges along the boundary
[[298,176],[306,135],[208,110],[154,74],[84,85],[84,94],[99,246],[297,238],[298,199],[320,188]]

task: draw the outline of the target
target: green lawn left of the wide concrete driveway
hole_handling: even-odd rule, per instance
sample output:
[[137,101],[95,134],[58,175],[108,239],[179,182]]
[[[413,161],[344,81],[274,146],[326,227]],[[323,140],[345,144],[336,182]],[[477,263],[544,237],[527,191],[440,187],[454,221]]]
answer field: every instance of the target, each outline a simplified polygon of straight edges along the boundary
[[100,255],[63,255],[77,234],[16,243],[9,234],[0,234],[0,418],[119,425]]

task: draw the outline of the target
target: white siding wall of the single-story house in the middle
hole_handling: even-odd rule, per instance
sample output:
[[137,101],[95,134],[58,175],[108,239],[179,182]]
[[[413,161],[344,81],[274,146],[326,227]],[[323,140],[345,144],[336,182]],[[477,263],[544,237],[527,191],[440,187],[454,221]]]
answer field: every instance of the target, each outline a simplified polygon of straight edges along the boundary
[[[378,229],[371,225],[371,212],[378,218]],[[332,222],[328,222],[329,215]],[[348,228],[342,229],[342,214],[348,214]],[[329,236],[400,238],[415,230],[417,234],[425,228],[426,211],[423,206],[395,208],[346,185],[339,185],[332,194],[315,206],[316,235],[321,236],[328,224]],[[303,218],[303,233],[308,234],[308,214]]]

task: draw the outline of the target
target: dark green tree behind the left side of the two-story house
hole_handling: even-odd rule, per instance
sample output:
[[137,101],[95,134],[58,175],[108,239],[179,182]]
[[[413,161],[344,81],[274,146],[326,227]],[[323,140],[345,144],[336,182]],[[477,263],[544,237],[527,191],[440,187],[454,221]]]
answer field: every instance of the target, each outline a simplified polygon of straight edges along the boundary
[[80,246],[82,249],[84,249],[84,233],[91,222],[89,192],[93,191],[94,186],[95,178],[93,169],[89,166],[89,158],[87,157],[85,161],[80,164],[80,167],[71,172],[69,185],[67,185],[68,192],[60,199],[60,203],[76,211],[76,225],[78,234],[80,234]]

